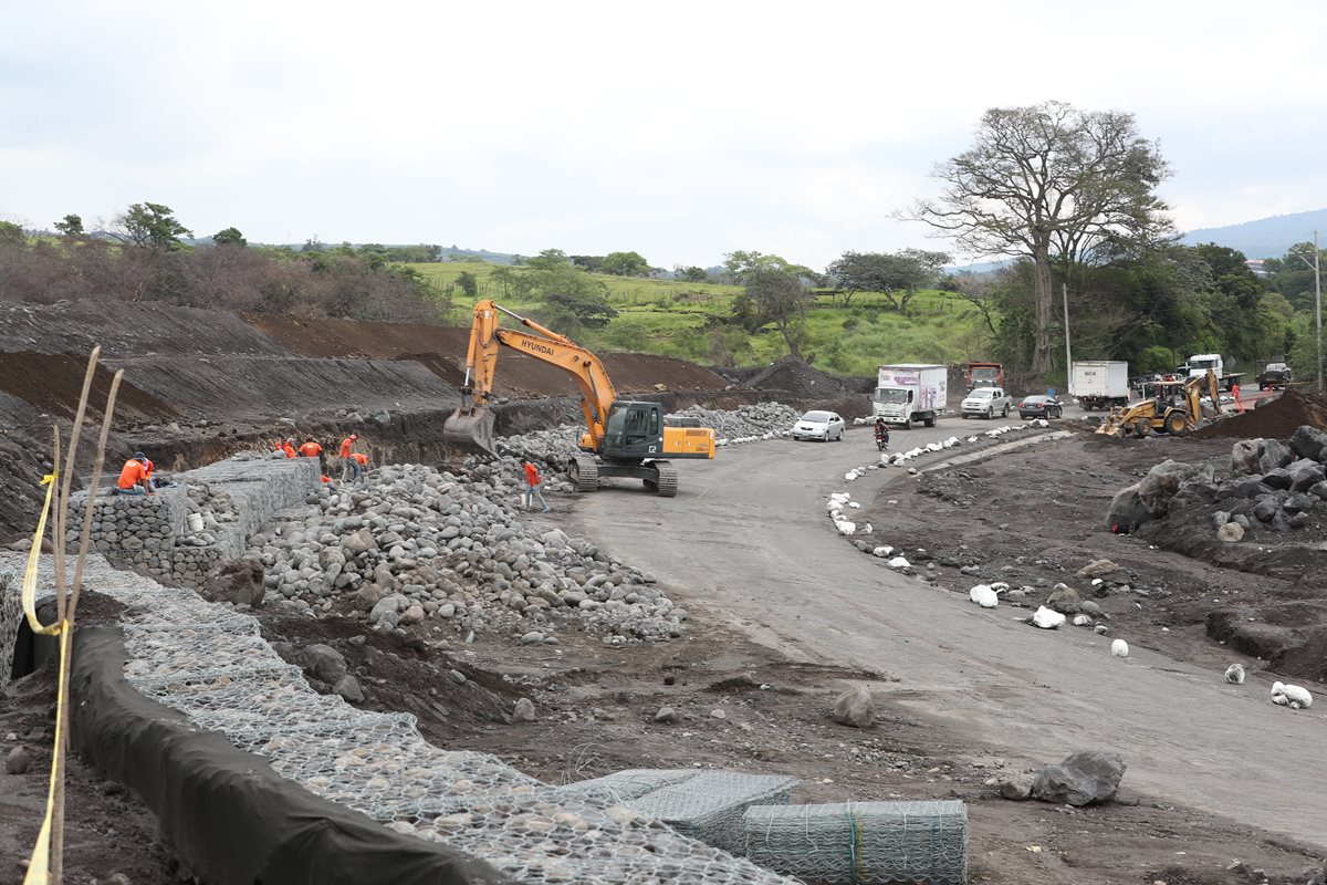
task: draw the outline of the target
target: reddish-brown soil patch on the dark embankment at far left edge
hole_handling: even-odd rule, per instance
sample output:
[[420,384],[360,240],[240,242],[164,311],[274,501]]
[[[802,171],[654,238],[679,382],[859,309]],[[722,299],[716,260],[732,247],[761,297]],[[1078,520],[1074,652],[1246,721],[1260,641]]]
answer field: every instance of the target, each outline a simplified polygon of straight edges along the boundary
[[[86,357],[28,350],[0,353],[0,390],[61,418],[74,417],[86,372]],[[105,365],[98,364],[89,395],[89,407],[93,410],[93,415],[101,414],[101,406],[106,403],[111,374]],[[115,414],[130,418],[169,419],[170,415],[175,414],[175,410],[123,379],[119,382]]]

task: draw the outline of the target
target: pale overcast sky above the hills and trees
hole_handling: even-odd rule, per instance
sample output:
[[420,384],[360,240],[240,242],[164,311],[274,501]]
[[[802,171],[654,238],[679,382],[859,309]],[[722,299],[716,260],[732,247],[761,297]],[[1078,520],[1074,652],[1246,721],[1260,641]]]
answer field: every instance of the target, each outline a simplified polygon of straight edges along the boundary
[[5,7],[25,227],[150,200],[199,236],[823,268],[943,248],[889,214],[986,109],[1052,98],[1136,114],[1181,230],[1327,206],[1308,0]]

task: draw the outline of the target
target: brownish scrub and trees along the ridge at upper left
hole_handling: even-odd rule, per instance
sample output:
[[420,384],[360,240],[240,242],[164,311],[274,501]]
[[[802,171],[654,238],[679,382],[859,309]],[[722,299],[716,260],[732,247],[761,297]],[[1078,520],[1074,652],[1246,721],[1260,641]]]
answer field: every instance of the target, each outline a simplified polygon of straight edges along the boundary
[[[159,301],[239,313],[291,313],[349,320],[441,321],[447,295],[386,247],[252,247],[234,227],[210,243],[169,206],[134,203],[88,231],[78,215],[54,223],[56,236],[28,236],[0,222],[0,300]],[[431,248],[431,247],[430,247]]]

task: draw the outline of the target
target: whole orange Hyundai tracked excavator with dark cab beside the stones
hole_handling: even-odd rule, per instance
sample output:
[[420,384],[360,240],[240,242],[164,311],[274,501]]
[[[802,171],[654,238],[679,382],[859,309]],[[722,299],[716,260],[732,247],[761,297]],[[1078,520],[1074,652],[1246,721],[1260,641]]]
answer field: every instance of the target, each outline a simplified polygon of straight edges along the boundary
[[[503,329],[503,313],[533,334]],[[662,498],[673,498],[677,495],[677,468],[669,459],[714,458],[715,434],[711,427],[667,427],[660,403],[618,399],[598,357],[495,301],[475,305],[460,407],[451,413],[442,429],[447,444],[463,451],[498,454],[488,401],[494,395],[500,345],[557,366],[576,378],[581,411],[585,413],[581,454],[567,464],[576,491],[596,491],[601,476],[628,476],[642,480],[646,490]]]

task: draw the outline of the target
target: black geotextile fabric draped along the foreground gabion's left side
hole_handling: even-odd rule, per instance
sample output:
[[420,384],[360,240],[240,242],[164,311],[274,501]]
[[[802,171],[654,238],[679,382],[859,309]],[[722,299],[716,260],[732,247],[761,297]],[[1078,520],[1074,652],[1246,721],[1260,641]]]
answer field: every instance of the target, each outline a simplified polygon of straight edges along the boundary
[[73,736],[157,815],[208,885],[508,885],[488,864],[397,833],[280,778],[265,759],[139,694],[119,628],[80,628]]

